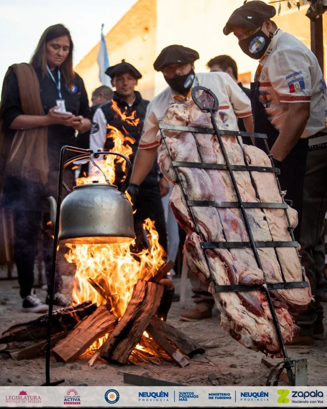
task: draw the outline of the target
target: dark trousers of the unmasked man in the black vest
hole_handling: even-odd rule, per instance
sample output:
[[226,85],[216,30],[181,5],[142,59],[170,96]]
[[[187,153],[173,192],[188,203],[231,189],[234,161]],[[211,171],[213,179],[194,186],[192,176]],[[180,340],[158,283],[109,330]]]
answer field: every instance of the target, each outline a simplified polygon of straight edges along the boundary
[[137,249],[147,247],[146,240],[143,237],[143,220],[150,218],[155,222],[155,228],[159,235],[159,244],[167,253],[167,230],[164,207],[162,205],[159,187],[154,186],[151,189],[139,189],[137,195],[137,211],[134,214],[134,230],[136,236]]

